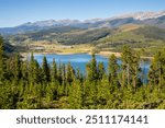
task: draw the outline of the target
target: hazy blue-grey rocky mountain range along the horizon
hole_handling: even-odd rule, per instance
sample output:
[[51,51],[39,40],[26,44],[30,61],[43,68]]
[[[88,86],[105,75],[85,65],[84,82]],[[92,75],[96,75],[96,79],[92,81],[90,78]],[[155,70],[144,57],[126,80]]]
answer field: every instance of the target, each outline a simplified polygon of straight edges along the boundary
[[1,27],[0,33],[6,34],[23,34],[28,32],[36,32],[41,30],[48,30],[55,27],[77,27],[77,28],[101,28],[109,27],[114,28],[125,24],[138,25],[152,25],[161,28],[165,28],[165,11],[160,12],[136,12],[130,14],[123,14],[109,19],[92,19],[86,21],[78,20],[47,20],[37,21],[34,23],[28,22],[15,27]]

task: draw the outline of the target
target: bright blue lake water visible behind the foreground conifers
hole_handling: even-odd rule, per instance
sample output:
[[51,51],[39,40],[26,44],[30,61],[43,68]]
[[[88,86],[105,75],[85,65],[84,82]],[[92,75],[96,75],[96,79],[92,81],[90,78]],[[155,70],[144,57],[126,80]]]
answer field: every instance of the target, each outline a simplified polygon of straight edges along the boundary
[[[53,58],[55,58],[55,61],[57,63],[68,63],[70,62],[74,69],[79,69],[81,72],[85,72],[86,65],[91,60],[91,55],[88,54],[74,54],[74,55],[34,55],[34,58],[38,61],[38,63],[42,63],[43,57],[46,56],[48,63],[52,63]],[[106,70],[108,67],[109,58],[96,55],[97,62],[103,62]],[[121,60],[118,60],[118,63],[121,63]],[[148,72],[150,62],[143,62],[141,63],[142,71],[145,73],[145,75]]]

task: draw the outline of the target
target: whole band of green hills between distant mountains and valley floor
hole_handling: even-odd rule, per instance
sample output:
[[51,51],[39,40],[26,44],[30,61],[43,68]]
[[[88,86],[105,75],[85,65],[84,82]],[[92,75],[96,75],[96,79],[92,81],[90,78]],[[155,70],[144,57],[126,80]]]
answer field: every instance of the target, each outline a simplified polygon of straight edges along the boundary
[[[165,46],[165,30],[155,26],[127,24],[117,28],[84,30],[76,27],[56,27],[19,35],[4,36],[6,40],[16,46],[33,45],[44,42],[59,45],[94,45],[96,51],[121,51],[123,45],[132,48],[146,48],[146,55],[153,56]],[[37,44],[36,44],[37,45]]]

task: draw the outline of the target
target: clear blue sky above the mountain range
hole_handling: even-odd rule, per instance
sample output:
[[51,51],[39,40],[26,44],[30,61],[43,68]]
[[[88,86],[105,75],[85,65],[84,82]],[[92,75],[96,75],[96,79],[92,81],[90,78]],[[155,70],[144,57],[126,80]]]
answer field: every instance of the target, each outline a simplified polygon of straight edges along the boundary
[[0,27],[42,20],[111,18],[165,10],[165,0],[0,0]]

